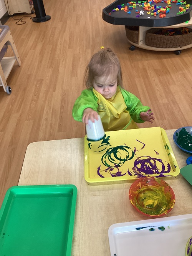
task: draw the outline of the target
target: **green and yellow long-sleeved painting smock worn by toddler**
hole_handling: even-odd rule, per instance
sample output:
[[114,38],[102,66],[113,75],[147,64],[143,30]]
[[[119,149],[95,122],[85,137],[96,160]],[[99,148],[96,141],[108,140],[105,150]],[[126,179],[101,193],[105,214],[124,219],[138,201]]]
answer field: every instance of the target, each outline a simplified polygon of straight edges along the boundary
[[132,93],[117,87],[116,94],[104,98],[94,88],[83,90],[73,106],[73,118],[82,122],[83,111],[92,108],[101,117],[104,131],[118,131],[138,128],[136,123],[144,123],[140,118],[141,112],[149,110]]

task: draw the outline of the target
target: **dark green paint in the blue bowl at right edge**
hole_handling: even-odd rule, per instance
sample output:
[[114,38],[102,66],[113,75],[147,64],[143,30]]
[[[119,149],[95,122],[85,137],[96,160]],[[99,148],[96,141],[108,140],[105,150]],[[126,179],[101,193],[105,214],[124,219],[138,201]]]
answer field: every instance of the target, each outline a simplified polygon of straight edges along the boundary
[[179,135],[176,133],[176,136],[178,136],[177,143],[180,147],[192,151],[192,135],[190,135],[185,128],[179,131]]

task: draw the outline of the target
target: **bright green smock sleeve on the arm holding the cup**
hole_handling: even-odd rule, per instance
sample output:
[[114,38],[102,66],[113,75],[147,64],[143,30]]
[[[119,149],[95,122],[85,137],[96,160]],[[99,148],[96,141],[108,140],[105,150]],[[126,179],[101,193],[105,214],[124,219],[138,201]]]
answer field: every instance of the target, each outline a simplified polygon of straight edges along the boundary
[[72,115],[74,120],[82,122],[83,111],[86,108],[92,108],[97,111],[98,109],[98,98],[94,95],[93,90],[86,89],[81,92],[81,95],[76,99]]

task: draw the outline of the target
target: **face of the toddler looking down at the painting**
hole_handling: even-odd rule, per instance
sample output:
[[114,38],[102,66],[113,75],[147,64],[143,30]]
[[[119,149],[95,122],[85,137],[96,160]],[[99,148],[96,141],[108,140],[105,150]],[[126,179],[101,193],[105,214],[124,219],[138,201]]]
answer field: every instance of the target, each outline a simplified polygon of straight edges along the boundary
[[93,80],[93,88],[106,99],[110,99],[115,95],[117,91],[117,85],[117,75],[98,76]]

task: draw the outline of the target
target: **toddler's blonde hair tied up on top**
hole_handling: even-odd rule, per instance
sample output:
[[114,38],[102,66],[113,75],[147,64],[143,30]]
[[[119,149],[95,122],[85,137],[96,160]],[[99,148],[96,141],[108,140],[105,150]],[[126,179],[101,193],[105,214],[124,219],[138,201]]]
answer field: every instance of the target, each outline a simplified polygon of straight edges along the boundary
[[95,53],[87,65],[84,84],[87,88],[93,87],[95,77],[109,76],[114,72],[117,72],[118,85],[122,87],[122,72],[119,59],[110,48],[104,48]]

